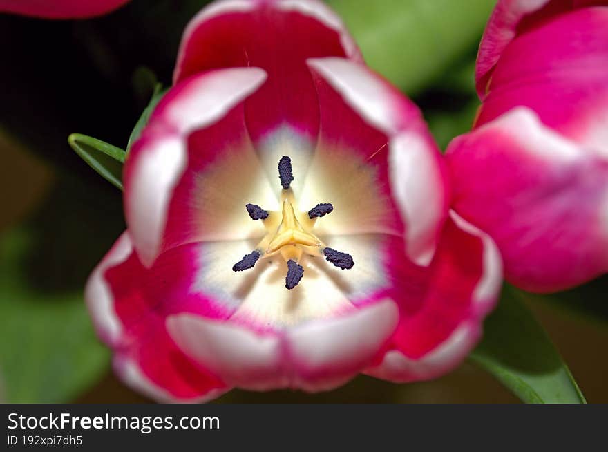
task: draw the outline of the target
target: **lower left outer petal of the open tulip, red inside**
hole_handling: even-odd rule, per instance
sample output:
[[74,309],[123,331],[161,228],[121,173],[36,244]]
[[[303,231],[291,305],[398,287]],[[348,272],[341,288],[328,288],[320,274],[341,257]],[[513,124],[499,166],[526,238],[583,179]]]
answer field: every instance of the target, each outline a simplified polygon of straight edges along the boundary
[[114,365],[126,384],[161,402],[195,402],[227,390],[220,379],[182,354],[164,318],[175,312],[227,315],[191,293],[196,253],[164,254],[147,270],[124,233],[91,274],[86,301],[97,332],[115,350]]

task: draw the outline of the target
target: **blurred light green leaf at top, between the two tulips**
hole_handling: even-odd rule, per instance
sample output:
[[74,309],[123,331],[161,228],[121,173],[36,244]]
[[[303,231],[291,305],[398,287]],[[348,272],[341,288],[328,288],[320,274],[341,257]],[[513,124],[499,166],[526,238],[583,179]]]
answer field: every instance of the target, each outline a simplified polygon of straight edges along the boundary
[[479,45],[495,0],[327,0],[368,64],[408,94]]

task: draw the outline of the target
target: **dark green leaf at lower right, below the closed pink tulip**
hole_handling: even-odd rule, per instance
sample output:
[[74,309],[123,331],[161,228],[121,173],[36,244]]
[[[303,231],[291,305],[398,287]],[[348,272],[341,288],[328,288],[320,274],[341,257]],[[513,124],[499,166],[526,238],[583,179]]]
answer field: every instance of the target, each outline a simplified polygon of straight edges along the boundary
[[471,359],[524,402],[586,403],[547,333],[522,302],[524,296],[505,288]]

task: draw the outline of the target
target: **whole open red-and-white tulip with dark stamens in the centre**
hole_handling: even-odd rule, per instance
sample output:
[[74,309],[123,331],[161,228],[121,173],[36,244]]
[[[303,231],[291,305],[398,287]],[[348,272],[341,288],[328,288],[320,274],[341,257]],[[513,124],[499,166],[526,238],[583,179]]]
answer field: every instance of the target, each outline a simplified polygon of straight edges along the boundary
[[131,148],[128,229],[86,300],[117,373],[161,401],[430,379],[502,276],[449,203],[418,109],[323,3],[213,3]]

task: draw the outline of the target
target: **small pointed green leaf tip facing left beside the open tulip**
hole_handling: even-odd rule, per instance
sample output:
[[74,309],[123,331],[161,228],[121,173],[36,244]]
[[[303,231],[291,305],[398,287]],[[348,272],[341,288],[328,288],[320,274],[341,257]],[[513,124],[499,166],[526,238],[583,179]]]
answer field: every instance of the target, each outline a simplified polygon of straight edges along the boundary
[[126,156],[122,149],[79,133],[70,135],[68,143],[91,168],[122,190],[122,164]]

